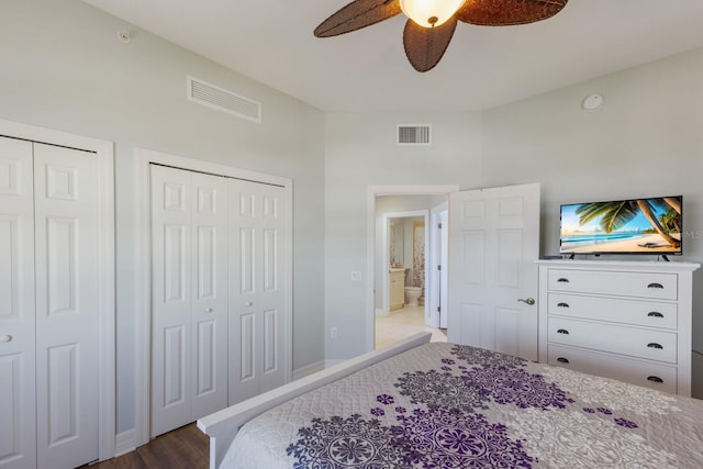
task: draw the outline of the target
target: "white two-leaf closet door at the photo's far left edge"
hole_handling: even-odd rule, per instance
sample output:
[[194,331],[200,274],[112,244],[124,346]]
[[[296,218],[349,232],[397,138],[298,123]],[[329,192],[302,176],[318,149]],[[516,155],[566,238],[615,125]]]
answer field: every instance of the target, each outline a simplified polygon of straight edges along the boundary
[[0,467],[81,466],[98,459],[97,158],[2,137],[0,168]]

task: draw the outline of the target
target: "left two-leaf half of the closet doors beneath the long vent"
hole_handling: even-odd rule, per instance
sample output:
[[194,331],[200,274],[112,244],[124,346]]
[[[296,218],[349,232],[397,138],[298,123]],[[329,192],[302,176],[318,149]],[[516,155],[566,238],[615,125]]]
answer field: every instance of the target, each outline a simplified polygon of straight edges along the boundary
[[227,404],[227,181],[152,166],[152,436]]

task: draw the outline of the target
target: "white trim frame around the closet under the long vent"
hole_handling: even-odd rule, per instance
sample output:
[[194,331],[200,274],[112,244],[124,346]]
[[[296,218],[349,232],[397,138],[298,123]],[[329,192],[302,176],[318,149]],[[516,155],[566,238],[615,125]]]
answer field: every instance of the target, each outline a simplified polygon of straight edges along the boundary
[[264,172],[239,169],[217,163],[203,161],[183,156],[169,155],[145,148],[135,148],[136,159],[136,315],[135,315],[135,446],[149,442],[150,435],[150,376],[152,376],[152,185],[149,166],[152,164],[170,166],[178,169],[205,172],[253,182],[280,186],[286,191],[286,228],[284,239],[288,256],[284,272],[287,277],[286,325],[283,348],[286,354],[286,382],[290,381],[292,370],[292,279],[293,279],[293,181],[290,178],[267,175]]

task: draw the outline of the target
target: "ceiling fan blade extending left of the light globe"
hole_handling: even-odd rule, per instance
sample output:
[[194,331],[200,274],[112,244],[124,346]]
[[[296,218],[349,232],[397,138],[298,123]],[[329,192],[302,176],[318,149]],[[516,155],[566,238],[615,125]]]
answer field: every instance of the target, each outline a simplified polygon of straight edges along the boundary
[[315,27],[315,36],[330,37],[370,26],[401,12],[399,0],[355,0]]

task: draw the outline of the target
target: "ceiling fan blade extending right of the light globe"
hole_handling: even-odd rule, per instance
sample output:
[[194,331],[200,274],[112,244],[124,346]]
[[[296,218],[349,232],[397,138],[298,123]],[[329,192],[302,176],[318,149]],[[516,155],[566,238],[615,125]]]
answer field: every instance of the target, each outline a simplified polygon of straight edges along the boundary
[[554,16],[569,0],[468,0],[456,16],[479,26],[510,26]]

